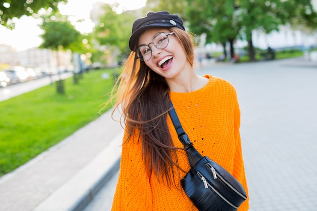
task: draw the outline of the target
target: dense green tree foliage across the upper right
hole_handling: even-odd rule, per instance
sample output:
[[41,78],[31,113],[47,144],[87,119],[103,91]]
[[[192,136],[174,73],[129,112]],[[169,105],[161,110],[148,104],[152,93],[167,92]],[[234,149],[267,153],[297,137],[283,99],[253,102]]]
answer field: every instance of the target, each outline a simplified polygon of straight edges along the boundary
[[[255,60],[253,30],[278,31],[288,23],[316,28],[317,16],[310,0],[187,0],[186,16],[196,34],[207,34],[207,42],[248,41],[250,60]],[[206,6],[209,6],[206,9]]]

